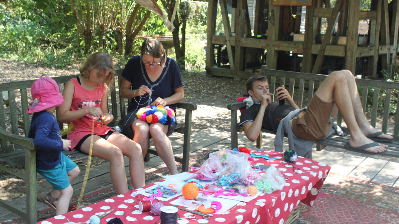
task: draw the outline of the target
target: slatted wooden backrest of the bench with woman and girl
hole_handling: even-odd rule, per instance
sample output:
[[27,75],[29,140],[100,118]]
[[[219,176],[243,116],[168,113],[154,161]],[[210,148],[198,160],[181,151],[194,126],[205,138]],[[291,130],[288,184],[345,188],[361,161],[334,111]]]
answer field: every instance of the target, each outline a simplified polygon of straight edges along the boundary
[[[122,74],[123,69],[118,69],[117,73],[115,74],[115,82],[113,82],[113,90],[109,92],[109,95],[111,95],[111,104],[109,104],[109,113],[114,116],[113,122],[109,124],[109,126],[118,126],[122,123],[124,117],[126,116],[126,111],[125,111],[125,99],[120,96],[119,94],[117,95],[117,90],[119,88],[115,88],[116,83],[118,84],[117,86],[120,87],[122,83],[122,77],[120,76]],[[59,84],[60,90],[62,91],[63,86],[65,86],[65,83],[67,83],[70,79],[77,77],[79,75],[69,75],[69,76],[63,76],[63,77],[53,77],[53,79]],[[23,123],[23,133],[25,136],[28,136],[29,128],[30,128],[30,115],[26,113],[29,107],[29,103],[32,102],[32,99],[28,100],[28,96],[31,97],[30,94],[30,88],[32,87],[32,84],[34,83],[35,80],[28,80],[28,81],[18,81],[18,82],[13,82],[13,83],[1,83],[0,84],[0,99],[3,98],[3,92],[8,93],[8,105],[9,105],[9,117],[6,116],[6,105],[2,104],[0,106],[0,127],[6,129],[6,123],[9,124],[11,123],[11,132],[13,134],[18,135],[19,134],[19,128],[18,128],[18,123]],[[61,88],[62,87],[62,88]],[[19,94],[18,95],[18,90]],[[118,91],[119,92],[119,91]],[[17,93],[17,94],[16,94]],[[120,113],[118,112],[118,103],[117,100],[119,99],[119,106],[120,106]],[[128,103],[130,101],[128,100]],[[18,111],[17,111],[17,104],[20,104],[20,107],[22,111],[22,120],[18,121]],[[58,112],[58,110],[57,110]],[[8,113],[7,113],[8,114]],[[63,124],[59,123],[59,128],[60,130],[63,130]],[[5,141],[1,141],[1,146],[4,147]]]

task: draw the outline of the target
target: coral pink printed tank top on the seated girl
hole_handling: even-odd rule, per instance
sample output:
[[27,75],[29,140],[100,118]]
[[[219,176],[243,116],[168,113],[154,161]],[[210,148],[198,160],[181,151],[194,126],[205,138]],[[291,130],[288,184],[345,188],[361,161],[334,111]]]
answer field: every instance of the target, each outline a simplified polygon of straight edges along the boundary
[[[85,90],[78,81],[73,78],[72,83],[75,85],[75,93],[71,103],[71,110],[80,110],[86,107],[98,107],[101,109],[101,98],[104,96],[104,84],[100,84],[95,90]],[[67,139],[71,140],[71,150],[75,151],[77,143],[84,137],[91,134],[93,127],[93,115],[85,116],[69,123],[70,130]],[[113,131],[106,125],[102,126],[101,122],[94,122],[94,134],[105,135],[109,131]]]

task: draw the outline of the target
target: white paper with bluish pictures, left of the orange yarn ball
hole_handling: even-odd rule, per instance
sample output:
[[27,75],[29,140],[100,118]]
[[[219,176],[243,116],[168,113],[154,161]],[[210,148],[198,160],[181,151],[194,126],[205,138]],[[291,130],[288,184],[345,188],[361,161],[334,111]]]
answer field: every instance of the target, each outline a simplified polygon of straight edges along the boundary
[[[170,184],[178,185],[177,187],[173,187],[174,190],[177,192],[177,194],[173,191],[173,189],[171,187],[168,187],[168,185],[170,185]],[[172,198],[176,198],[177,196],[181,195],[179,193],[182,190],[183,184],[176,183],[175,181],[171,181],[171,180],[166,180],[166,181],[162,181],[162,182],[156,182],[155,185],[150,187],[151,190],[143,189],[143,190],[136,191],[136,192],[139,193],[140,195],[150,197],[150,195],[154,194],[153,190],[161,189],[162,187],[163,187],[162,196],[155,197],[155,198],[157,198],[158,200],[162,200],[162,201],[168,201]]]

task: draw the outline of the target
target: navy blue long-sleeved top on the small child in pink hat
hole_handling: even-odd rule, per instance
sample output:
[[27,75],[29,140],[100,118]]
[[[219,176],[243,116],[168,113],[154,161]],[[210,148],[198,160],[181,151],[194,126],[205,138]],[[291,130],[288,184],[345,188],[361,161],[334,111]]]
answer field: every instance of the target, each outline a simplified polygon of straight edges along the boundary
[[47,111],[33,113],[29,138],[34,138],[36,169],[51,169],[61,162],[63,142],[57,133],[59,127],[53,114]]

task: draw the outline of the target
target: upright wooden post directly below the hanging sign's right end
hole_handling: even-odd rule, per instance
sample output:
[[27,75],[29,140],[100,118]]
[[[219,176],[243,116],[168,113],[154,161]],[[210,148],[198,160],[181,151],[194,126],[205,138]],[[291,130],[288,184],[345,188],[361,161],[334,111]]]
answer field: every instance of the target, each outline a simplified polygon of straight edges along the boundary
[[[315,5],[315,3],[313,3]],[[302,72],[310,73],[312,71],[312,44],[316,36],[314,32],[314,6],[306,6],[305,17],[305,37],[303,43],[303,58],[302,58]],[[269,68],[269,66],[268,66]]]

